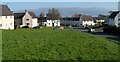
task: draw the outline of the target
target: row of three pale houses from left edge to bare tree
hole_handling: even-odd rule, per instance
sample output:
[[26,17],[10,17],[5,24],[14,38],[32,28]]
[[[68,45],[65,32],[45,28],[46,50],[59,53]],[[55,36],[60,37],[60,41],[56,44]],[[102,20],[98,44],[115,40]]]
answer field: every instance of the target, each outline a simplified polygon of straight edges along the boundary
[[[41,22],[44,26],[60,26],[60,20],[48,20],[46,18]],[[39,18],[34,12],[25,10],[22,13],[13,13],[7,5],[0,5],[0,29],[15,29],[17,26],[32,28],[39,26],[39,24]]]

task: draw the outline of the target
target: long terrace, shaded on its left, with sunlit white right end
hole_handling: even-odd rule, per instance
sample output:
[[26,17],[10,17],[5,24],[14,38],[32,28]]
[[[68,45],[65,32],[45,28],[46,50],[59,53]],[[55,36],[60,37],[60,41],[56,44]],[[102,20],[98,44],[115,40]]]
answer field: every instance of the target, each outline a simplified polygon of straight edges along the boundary
[[92,16],[81,15],[78,17],[67,17],[63,18],[64,21],[61,22],[63,25],[71,25],[71,26],[94,26],[95,23],[93,21]]

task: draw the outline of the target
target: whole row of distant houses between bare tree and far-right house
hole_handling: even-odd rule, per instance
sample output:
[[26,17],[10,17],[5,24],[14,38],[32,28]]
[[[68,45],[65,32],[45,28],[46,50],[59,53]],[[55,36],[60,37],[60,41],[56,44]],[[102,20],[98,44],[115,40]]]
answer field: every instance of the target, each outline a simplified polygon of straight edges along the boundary
[[98,23],[104,23],[105,15],[99,15],[98,17],[92,17],[88,15],[82,15],[76,17],[65,17],[63,18],[64,21],[61,21],[63,25],[71,25],[71,26],[95,26]]

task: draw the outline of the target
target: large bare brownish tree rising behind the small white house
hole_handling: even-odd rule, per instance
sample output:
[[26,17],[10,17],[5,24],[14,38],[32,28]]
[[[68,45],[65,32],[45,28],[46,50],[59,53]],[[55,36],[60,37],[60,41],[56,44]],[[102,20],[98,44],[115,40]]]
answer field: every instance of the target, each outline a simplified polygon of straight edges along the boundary
[[49,20],[58,20],[60,19],[60,13],[57,9],[52,8],[49,9],[48,14],[47,14],[47,19]]

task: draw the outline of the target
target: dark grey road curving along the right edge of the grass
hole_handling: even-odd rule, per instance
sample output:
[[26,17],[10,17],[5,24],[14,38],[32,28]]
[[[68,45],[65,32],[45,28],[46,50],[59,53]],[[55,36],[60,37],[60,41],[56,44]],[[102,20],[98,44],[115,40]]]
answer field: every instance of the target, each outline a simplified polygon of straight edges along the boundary
[[93,35],[97,35],[100,37],[104,37],[104,38],[108,38],[108,39],[112,39],[112,40],[120,42],[120,36],[113,35],[110,33],[103,33],[103,30],[96,30],[95,32],[88,32],[88,29],[85,29],[85,28],[73,27],[73,29],[80,30],[85,33],[90,33]]

